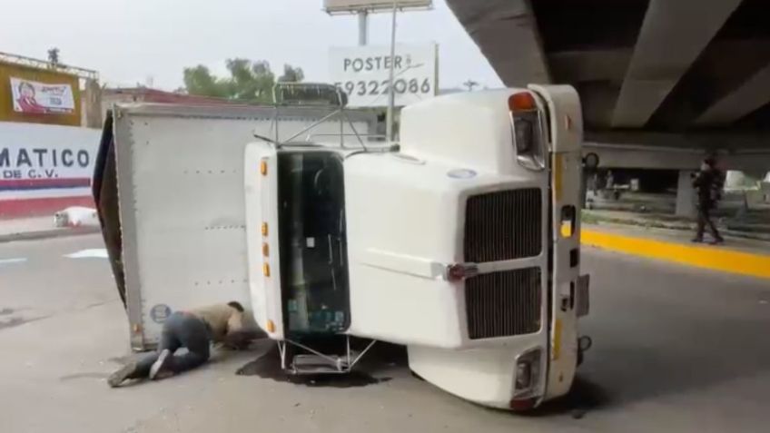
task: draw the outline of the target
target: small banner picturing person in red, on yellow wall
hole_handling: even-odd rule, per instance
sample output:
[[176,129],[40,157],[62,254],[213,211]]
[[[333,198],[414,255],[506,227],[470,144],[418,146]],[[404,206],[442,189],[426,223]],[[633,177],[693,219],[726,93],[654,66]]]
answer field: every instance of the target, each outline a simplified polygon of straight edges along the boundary
[[47,84],[10,77],[16,113],[73,113],[74,95],[67,83]]

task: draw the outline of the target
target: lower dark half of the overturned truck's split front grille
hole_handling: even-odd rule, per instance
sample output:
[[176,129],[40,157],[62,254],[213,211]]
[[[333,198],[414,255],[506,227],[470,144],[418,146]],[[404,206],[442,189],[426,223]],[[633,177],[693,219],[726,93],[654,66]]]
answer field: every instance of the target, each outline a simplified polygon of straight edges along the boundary
[[540,329],[540,269],[485,273],[465,281],[465,310],[471,340],[537,332]]

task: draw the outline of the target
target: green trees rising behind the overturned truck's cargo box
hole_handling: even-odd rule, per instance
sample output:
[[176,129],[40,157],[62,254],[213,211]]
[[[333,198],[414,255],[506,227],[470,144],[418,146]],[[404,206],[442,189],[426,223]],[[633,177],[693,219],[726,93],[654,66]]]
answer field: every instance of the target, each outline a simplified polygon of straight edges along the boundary
[[[234,58],[226,62],[229,77],[213,75],[209,68],[198,66],[184,68],[184,88],[189,94],[214,96],[242,103],[272,103],[272,86],[275,74],[264,60],[252,62]],[[280,82],[301,82],[304,78],[301,68],[289,64],[283,66]]]

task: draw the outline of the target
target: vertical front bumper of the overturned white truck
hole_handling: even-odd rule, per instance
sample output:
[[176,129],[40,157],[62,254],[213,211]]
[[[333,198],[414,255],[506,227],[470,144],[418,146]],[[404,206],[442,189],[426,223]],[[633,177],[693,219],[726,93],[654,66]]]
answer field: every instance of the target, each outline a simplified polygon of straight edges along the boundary
[[578,362],[578,279],[580,263],[580,100],[567,85],[530,85],[548,108],[551,200],[551,314],[547,396],[572,385]]

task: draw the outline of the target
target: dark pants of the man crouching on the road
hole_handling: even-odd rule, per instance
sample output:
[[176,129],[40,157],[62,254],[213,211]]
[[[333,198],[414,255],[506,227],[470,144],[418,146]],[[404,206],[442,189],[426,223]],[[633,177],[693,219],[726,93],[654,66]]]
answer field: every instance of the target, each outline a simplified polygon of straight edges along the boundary
[[168,361],[167,365],[174,373],[194,369],[209,359],[210,343],[209,330],[202,320],[192,314],[177,311],[163,323],[158,351],[141,359],[129,379],[149,376],[150,368],[163,349],[169,349],[172,354],[176,349],[187,349],[187,353],[174,355]]

